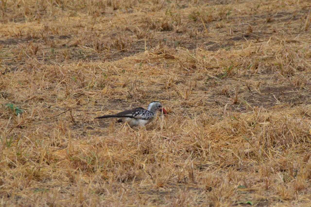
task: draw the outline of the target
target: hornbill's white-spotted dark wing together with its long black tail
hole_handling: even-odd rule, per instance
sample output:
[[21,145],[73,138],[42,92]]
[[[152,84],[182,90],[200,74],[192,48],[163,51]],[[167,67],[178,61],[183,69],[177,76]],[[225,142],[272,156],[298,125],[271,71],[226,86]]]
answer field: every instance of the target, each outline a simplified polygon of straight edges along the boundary
[[121,111],[120,113],[116,115],[104,115],[104,116],[95,117],[95,119],[105,119],[105,118],[113,118],[113,117],[148,120],[148,119],[152,119],[153,114],[150,111],[142,107],[139,107],[139,108],[134,108],[132,110]]

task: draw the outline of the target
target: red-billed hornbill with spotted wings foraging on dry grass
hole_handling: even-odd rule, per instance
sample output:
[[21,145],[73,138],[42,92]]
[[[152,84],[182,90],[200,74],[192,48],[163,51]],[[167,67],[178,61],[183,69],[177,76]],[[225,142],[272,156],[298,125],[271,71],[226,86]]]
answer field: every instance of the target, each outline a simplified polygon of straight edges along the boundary
[[167,114],[165,108],[159,101],[152,101],[147,110],[139,107],[133,108],[131,110],[121,111],[115,115],[104,115],[95,117],[95,119],[106,119],[106,118],[120,118],[117,122],[127,122],[128,125],[133,128],[136,126],[144,127],[146,124],[149,124],[156,118],[157,112],[163,112],[163,114]]

